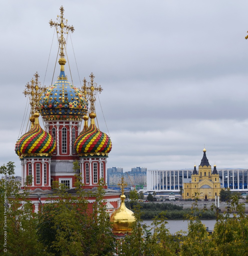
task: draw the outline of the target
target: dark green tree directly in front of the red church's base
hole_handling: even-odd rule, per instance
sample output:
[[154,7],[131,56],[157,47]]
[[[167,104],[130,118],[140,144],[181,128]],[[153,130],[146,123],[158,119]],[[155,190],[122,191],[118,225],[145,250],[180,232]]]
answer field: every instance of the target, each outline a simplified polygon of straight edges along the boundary
[[[113,255],[115,239],[103,200],[102,182],[100,180],[97,188],[89,193],[81,188],[78,180],[78,197],[72,197],[57,184],[56,198],[45,204],[39,214],[39,239],[48,252],[55,255]],[[96,198],[92,213],[88,211],[89,196]]]

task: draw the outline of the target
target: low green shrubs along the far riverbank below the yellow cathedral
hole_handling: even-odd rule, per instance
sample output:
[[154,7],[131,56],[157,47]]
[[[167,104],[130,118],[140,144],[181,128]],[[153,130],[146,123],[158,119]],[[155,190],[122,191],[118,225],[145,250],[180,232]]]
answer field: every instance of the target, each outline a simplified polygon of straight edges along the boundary
[[[128,209],[133,209],[137,202],[126,202],[125,205]],[[153,219],[160,216],[162,211],[166,211],[165,217],[167,219],[184,219],[185,214],[190,214],[191,209],[184,209],[182,206],[177,206],[170,203],[156,203],[156,202],[140,202],[141,206],[141,219]],[[200,219],[216,219],[214,211],[207,210],[201,212]]]

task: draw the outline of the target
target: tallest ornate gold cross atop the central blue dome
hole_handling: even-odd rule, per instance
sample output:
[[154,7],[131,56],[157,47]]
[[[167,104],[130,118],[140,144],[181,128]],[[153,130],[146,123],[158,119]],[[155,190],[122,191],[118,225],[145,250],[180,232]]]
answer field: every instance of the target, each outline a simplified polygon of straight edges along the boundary
[[[65,47],[65,39],[64,39],[64,32],[68,34],[68,30],[73,31],[75,30],[73,26],[67,26],[67,19],[64,18],[64,8],[63,6],[60,7],[60,16],[57,15],[57,21],[58,23],[55,23],[50,20],[49,24],[51,27],[56,27],[57,33],[60,33],[60,38],[58,38],[58,43],[60,44],[60,58],[64,58],[64,47]],[[60,27],[60,31],[59,28]]]

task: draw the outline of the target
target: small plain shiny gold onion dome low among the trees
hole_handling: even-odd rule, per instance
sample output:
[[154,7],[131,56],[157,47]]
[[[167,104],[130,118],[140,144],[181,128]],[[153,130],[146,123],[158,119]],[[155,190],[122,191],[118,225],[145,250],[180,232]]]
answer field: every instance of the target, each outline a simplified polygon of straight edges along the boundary
[[135,217],[133,216],[134,213],[126,208],[125,198],[125,195],[121,195],[121,206],[110,216],[113,233],[128,233],[132,231],[130,226],[135,221]]

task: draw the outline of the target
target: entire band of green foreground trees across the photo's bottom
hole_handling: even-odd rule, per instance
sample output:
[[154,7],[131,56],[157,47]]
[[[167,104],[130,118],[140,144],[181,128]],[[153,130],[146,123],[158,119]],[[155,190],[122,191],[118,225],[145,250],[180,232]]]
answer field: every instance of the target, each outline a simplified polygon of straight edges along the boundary
[[[33,213],[28,199],[28,176],[25,190],[19,193],[19,184],[14,180],[14,164],[0,167],[2,175],[10,175],[8,182],[0,180],[1,212],[7,212],[6,221],[0,222],[0,237],[4,241],[7,228],[7,252],[4,255],[125,255],[125,256],[244,256],[248,248],[248,217],[244,204],[237,195],[231,196],[226,211],[221,214],[216,207],[212,211],[198,209],[197,195],[190,212],[187,236],[184,232],[170,234],[166,218],[169,212],[182,209],[173,204],[139,203],[136,190],[130,193],[130,206],[136,218],[133,231],[124,240],[118,241],[111,232],[109,215],[106,212],[102,180],[90,193],[81,188],[76,176],[77,196],[68,194],[62,184],[55,184],[55,195],[43,204],[39,214]],[[6,197],[4,196],[6,195]],[[93,213],[88,211],[87,198],[95,197]],[[150,207],[150,208],[149,208]],[[178,207],[178,208],[177,208]],[[143,211],[152,208],[159,212],[152,226],[142,225]],[[200,218],[209,212],[215,213],[217,221],[212,234],[208,233]],[[233,216],[230,213],[233,213]],[[4,247],[1,247],[1,255]]]

